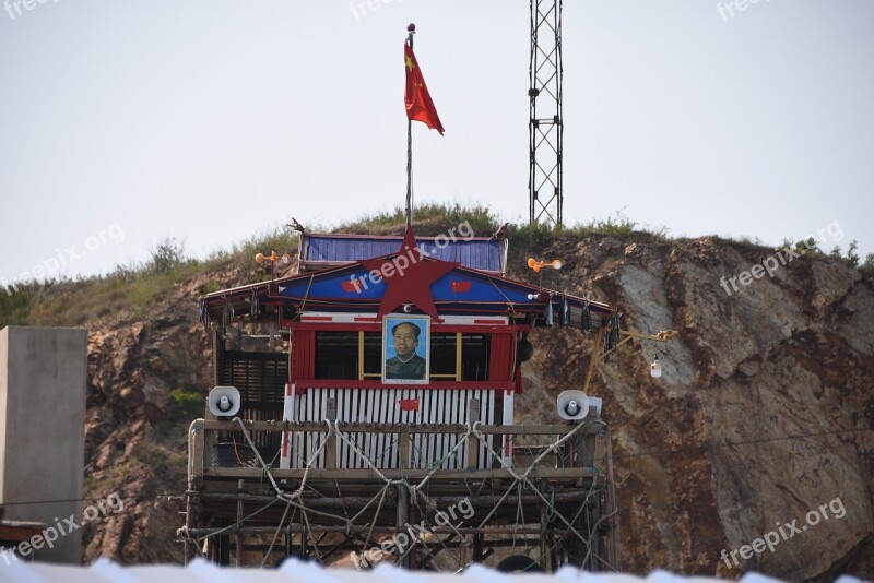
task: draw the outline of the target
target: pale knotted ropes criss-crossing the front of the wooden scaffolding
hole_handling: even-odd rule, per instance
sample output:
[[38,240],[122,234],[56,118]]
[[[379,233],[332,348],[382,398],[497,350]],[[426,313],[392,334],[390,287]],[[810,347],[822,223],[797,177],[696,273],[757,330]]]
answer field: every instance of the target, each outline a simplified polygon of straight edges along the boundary
[[[441,550],[451,550],[452,548],[459,548],[458,545],[461,546],[469,546],[470,542],[466,542],[466,536],[462,535],[459,527],[462,522],[459,521],[448,521],[446,524],[442,524],[444,528],[448,530],[446,534],[437,534],[436,531],[428,524],[426,524],[425,519],[427,516],[435,515],[436,512],[439,512],[437,505],[428,498],[426,493],[426,488],[428,487],[429,483],[434,478],[434,476],[439,472],[440,467],[449,460],[451,456],[457,456],[461,448],[466,447],[470,439],[475,439],[479,443],[485,448],[485,451],[489,452],[492,460],[498,462],[498,465],[503,467],[507,474],[510,476],[510,484],[507,486],[506,490],[504,491],[503,496],[500,496],[494,504],[491,504],[492,508],[488,510],[486,515],[479,520],[479,525],[473,523],[472,525],[475,526],[477,530],[485,530],[489,525],[489,521],[497,514],[499,509],[505,504],[507,498],[516,492],[517,495],[517,517],[515,521],[515,528],[512,534],[512,548],[516,548],[517,542],[520,540],[528,551],[531,546],[529,545],[531,540],[531,534],[527,532],[527,527],[529,524],[530,517],[525,516],[525,505],[523,502],[523,493],[524,492],[533,492],[534,496],[540,499],[542,503],[542,508],[544,509],[543,516],[543,524],[541,524],[541,528],[544,531],[547,528],[548,524],[563,524],[565,530],[560,534],[560,536],[556,536],[554,539],[551,537],[550,545],[544,547],[543,544],[541,545],[541,550],[545,551],[547,555],[553,555],[557,548],[562,545],[567,544],[568,537],[574,537],[575,539],[579,540],[581,545],[584,547],[584,555],[582,558],[582,564],[594,564],[593,561],[598,561],[599,564],[604,566],[607,569],[615,570],[613,566],[609,563],[603,557],[601,557],[598,552],[595,552],[592,548],[591,538],[593,533],[598,533],[601,525],[605,522],[611,520],[616,514],[615,509],[611,509],[610,512],[603,513],[598,516],[598,520],[594,523],[591,523],[589,520],[586,520],[584,523],[581,523],[582,526],[587,527],[586,532],[580,532],[578,523],[580,523],[580,516],[583,512],[588,512],[589,509],[594,508],[598,503],[598,497],[600,496],[601,491],[603,490],[603,486],[598,486],[597,480],[592,479],[589,483],[588,491],[586,492],[584,499],[579,504],[575,504],[575,510],[572,511],[572,515],[564,516],[562,512],[559,512],[558,505],[556,503],[556,492],[555,489],[552,487],[547,487],[545,491],[541,491],[539,485],[532,480],[533,473],[536,471],[536,467],[544,463],[544,461],[552,456],[551,459],[556,460],[556,465],[559,467],[567,467],[570,464],[567,463],[568,453],[563,451],[564,447],[572,439],[578,438],[582,432],[591,432],[592,425],[597,424],[600,426],[605,426],[602,421],[592,421],[586,424],[578,424],[574,426],[574,428],[565,435],[560,435],[558,428],[556,428],[555,433],[551,433],[552,437],[545,436],[543,440],[545,443],[542,443],[540,439],[536,439],[539,436],[531,436],[534,439],[533,444],[529,445],[520,445],[520,448],[528,448],[528,451],[532,453],[533,459],[528,464],[528,467],[523,471],[516,471],[513,467],[509,466],[509,464],[504,463],[504,459],[500,455],[499,451],[496,451],[488,447],[489,444],[489,435],[483,433],[481,430],[481,421],[474,421],[473,424],[464,424],[463,425],[463,433],[459,433],[458,442],[454,443],[452,448],[450,448],[445,454],[439,457],[438,460],[432,463],[424,463],[429,471],[417,481],[411,483],[405,475],[402,474],[401,479],[391,479],[389,478],[383,472],[380,471],[378,465],[370,460],[365,451],[363,451],[357,440],[351,439],[347,432],[340,430],[339,421],[336,420],[326,420],[324,421],[324,432],[319,433],[320,439],[317,441],[318,445],[309,452],[309,459],[306,460],[305,468],[303,476],[297,485],[297,488],[294,491],[285,491],[283,490],[276,479],[273,476],[273,463],[275,462],[275,457],[271,461],[270,464],[265,463],[261,453],[255,445],[255,441],[251,437],[249,428],[247,427],[246,421],[244,421],[239,417],[235,417],[234,421],[238,425],[239,431],[243,433],[245,441],[248,443],[249,448],[253,452],[258,464],[262,469],[262,476],[267,478],[272,487],[275,498],[270,500],[269,502],[264,503],[261,508],[255,510],[253,512],[246,515],[244,519],[236,521],[235,523],[225,526],[221,530],[211,532],[209,535],[192,538],[190,537],[188,531],[186,528],[180,528],[178,531],[179,537],[182,540],[189,540],[192,543],[200,543],[209,537],[213,536],[221,536],[227,533],[234,532],[237,527],[239,527],[243,523],[251,520],[252,517],[257,516],[258,514],[264,512],[267,509],[271,508],[272,505],[284,502],[285,510],[283,511],[282,517],[280,520],[279,526],[276,527],[275,532],[273,533],[272,542],[267,550],[267,555],[263,558],[262,566],[267,564],[267,560],[269,559],[270,552],[272,552],[273,548],[275,547],[279,535],[283,530],[283,525],[286,524],[286,519],[288,519],[290,513],[295,513],[297,510],[300,510],[300,520],[304,525],[303,533],[305,538],[305,546],[312,548],[312,552],[315,554],[316,558],[320,561],[328,556],[332,555],[336,548],[342,547],[342,545],[349,543],[349,540],[341,543],[340,545],[333,547],[329,550],[326,555],[321,555],[319,551],[319,544],[318,542],[321,540],[319,537],[318,540],[314,539],[314,527],[310,523],[312,516],[320,516],[329,521],[330,523],[341,524],[345,528],[345,536],[347,539],[351,539],[353,534],[353,526],[356,523],[362,521],[367,521],[369,524],[368,530],[366,531],[366,536],[364,537],[363,543],[353,542],[354,549],[357,548],[357,552],[364,552],[367,548],[373,548],[371,545],[374,544],[374,535],[375,528],[377,526],[376,517],[380,515],[382,508],[385,505],[385,501],[389,495],[389,490],[393,487],[402,487],[408,490],[410,493],[410,503],[413,508],[417,509],[421,516],[423,516],[422,522],[420,525],[410,528],[416,528],[420,533],[418,536],[414,536],[409,545],[409,547],[399,551],[400,559],[403,559],[412,552],[413,548],[416,546],[421,546],[423,551],[426,551],[423,559],[423,564],[427,561],[430,561],[437,552]],[[202,420],[194,421],[190,429],[190,437],[193,440],[193,436],[198,430],[202,430]],[[525,440],[525,431],[524,426],[522,426],[522,440]],[[402,433],[404,435],[404,433]],[[354,452],[355,455],[359,456],[359,459],[364,462],[367,468],[371,472],[371,476],[375,477],[380,484],[381,487],[376,491],[366,502],[363,504],[361,510],[355,512],[353,515],[350,515],[350,512],[345,508],[345,503],[342,508],[342,513],[340,512],[326,512],[321,510],[316,510],[307,505],[307,498],[304,498],[304,492],[311,490],[308,486],[307,481],[309,478],[310,469],[314,466],[317,466],[317,461],[326,451],[327,444],[332,440],[330,438],[335,438],[333,441],[334,443],[343,443],[350,451]],[[236,448],[236,439],[233,440]],[[422,452],[415,445],[415,440],[411,440],[411,447],[414,451],[417,452],[421,459],[424,460],[422,456]],[[403,444],[398,443],[398,438],[392,440],[392,444],[397,447],[402,447]],[[189,445],[191,449],[192,445]],[[534,454],[536,452],[536,454]],[[379,457],[385,455],[385,452],[379,452]],[[426,461],[426,460],[425,460]],[[488,464],[487,464],[488,465]],[[189,474],[191,469],[189,469]],[[336,480],[336,491],[338,495],[341,493],[339,483]],[[483,480],[484,481],[484,480]],[[465,480],[466,484],[466,480]],[[483,485],[481,485],[481,488]],[[468,490],[472,491],[470,485],[468,485]],[[316,492],[317,490],[312,490]],[[341,500],[343,500],[342,496],[339,496]],[[374,510],[375,509],[375,510]],[[375,512],[371,514],[371,512]],[[540,522],[535,521],[534,523]],[[287,524],[292,524],[291,520],[287,521]],[[318,528],[316,528],[318,531]],[[323,535],[322,535],[323,536]],[[473,535],[469,535],[473,536]],[[543,533],[541,534],[543,536]],[[459,543],[450,547],[447,543],[450,540],[458,539]],[[199,550],[200,551],[200,550]],[[542,560],[545,560],[546,557],[542,556]],[[459,564],[459,568],[463,568],[463,564]]]

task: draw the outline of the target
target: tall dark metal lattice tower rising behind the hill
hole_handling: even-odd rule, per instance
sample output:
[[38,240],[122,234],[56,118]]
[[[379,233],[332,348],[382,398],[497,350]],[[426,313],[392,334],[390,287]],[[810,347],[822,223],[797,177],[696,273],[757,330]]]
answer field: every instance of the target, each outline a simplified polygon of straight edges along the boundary
[[530,221],[562,225],[562,0],[531,0],[529,75]]

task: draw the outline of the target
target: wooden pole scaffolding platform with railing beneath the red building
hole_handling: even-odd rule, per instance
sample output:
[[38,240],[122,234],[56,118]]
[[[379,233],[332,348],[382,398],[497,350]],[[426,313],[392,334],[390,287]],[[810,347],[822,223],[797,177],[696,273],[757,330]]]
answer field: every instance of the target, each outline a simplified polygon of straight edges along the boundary
[[[257,433],[318,435],[304,468],[265,460]],[[332,452],[383,433],[401,466],[342,468]],[[416,463],[416,436],[458,436],[444,456],[465,453],[466,467],[445,459]],[[476,456],[489,437],[508,436],[513,464],[489,449],[494,467]],[[227,441],[232,451],[222,449]],[[500,442],[500,439],[495,439]],[[224,451],[224,453],[223,453]],[[318,460],[322,460],[319,463]],[[391,561],[456,572],[493,555],[518,568],[554,571],[572,564],[618,569],[610,433],[593,418],[566,426],[390,425],[198,419],[189,431],[187,557],[223,564],[274,564],[294,555],[322,564],[352,559],[358,568]],[[493,559],[493,562],[496,559]]]

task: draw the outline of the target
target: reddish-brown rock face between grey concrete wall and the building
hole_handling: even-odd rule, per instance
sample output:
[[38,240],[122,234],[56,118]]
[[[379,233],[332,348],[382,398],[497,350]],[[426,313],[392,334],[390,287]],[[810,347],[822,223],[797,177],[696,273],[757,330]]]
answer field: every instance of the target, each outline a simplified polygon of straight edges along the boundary
[[182,560],[172,497],[185,491],[187,427],[202,416],[212,383],[208,336],[194,317],[204,281],[178,286],[144,319],[118,316],[90,330],[85,493],[118,492],[125,510],[85,526],[86,562]]

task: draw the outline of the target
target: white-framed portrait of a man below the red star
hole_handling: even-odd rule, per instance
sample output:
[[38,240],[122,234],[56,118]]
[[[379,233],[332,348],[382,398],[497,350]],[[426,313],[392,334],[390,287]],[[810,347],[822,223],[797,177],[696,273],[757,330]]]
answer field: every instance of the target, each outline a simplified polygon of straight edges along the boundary
[[382,382],[426,384],[430,371],[430,317],[387,314],[382,319]]

